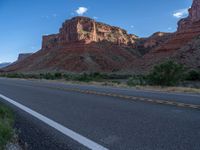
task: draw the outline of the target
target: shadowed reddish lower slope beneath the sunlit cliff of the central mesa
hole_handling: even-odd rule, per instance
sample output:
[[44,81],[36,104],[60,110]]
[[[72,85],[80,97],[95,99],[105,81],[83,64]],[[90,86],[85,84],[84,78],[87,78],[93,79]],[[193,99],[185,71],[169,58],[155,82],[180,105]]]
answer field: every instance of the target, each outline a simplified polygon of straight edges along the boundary
[[110,42],[69,43],[65,47],[42,49],[30,57],[10,65],[8,72],[119,72],[137,58],[126,47]]

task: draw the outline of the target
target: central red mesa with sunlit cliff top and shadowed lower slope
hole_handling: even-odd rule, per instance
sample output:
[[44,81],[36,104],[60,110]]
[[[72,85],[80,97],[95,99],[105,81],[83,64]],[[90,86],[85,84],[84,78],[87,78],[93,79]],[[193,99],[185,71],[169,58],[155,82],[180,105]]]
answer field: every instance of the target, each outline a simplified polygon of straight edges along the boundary
[[125,30],[75,17],[58,34],[43,36],[42,49],[6,71],[120,71],[140,57],[138,37]]

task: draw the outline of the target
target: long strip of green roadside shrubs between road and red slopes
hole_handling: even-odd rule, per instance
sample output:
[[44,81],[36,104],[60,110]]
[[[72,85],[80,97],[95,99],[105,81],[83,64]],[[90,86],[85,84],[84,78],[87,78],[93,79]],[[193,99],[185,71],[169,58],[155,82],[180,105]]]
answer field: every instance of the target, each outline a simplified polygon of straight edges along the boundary
[[[47,80],[65,80],[78,82],[101,82],[127,86],[180,86],[184,82],[200,81],[200,69],[188,70],[172,60],[167,60],[161,64],[155,65],[147,74],[143,75],[119,75],[105,73],[82,73],[67,74],[61,72],[40,73],[40,74],[22,74],[22,73],[2,73],[1,77],[25,78],[25,79],[47,79]],[[110,85],[108,84],[108,85]]]

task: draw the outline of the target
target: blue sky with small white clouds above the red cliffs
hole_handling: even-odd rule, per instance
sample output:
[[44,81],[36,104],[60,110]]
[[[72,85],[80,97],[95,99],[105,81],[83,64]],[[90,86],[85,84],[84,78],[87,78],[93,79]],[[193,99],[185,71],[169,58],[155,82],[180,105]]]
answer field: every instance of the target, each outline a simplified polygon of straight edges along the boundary
[[192,0],[0,0],[0,62],[38,51],[42,35],[58,33],[62,23],[75,16],[147,37],[176,31],[191,4]]

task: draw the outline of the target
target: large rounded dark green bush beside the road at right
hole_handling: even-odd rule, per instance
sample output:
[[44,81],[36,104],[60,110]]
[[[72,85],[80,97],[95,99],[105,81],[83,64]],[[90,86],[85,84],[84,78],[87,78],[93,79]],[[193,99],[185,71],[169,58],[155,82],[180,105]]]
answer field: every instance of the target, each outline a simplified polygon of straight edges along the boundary
[[184,67],[174,61],[156,65],[147,75],[150,85],[173,86],[184,79]]

